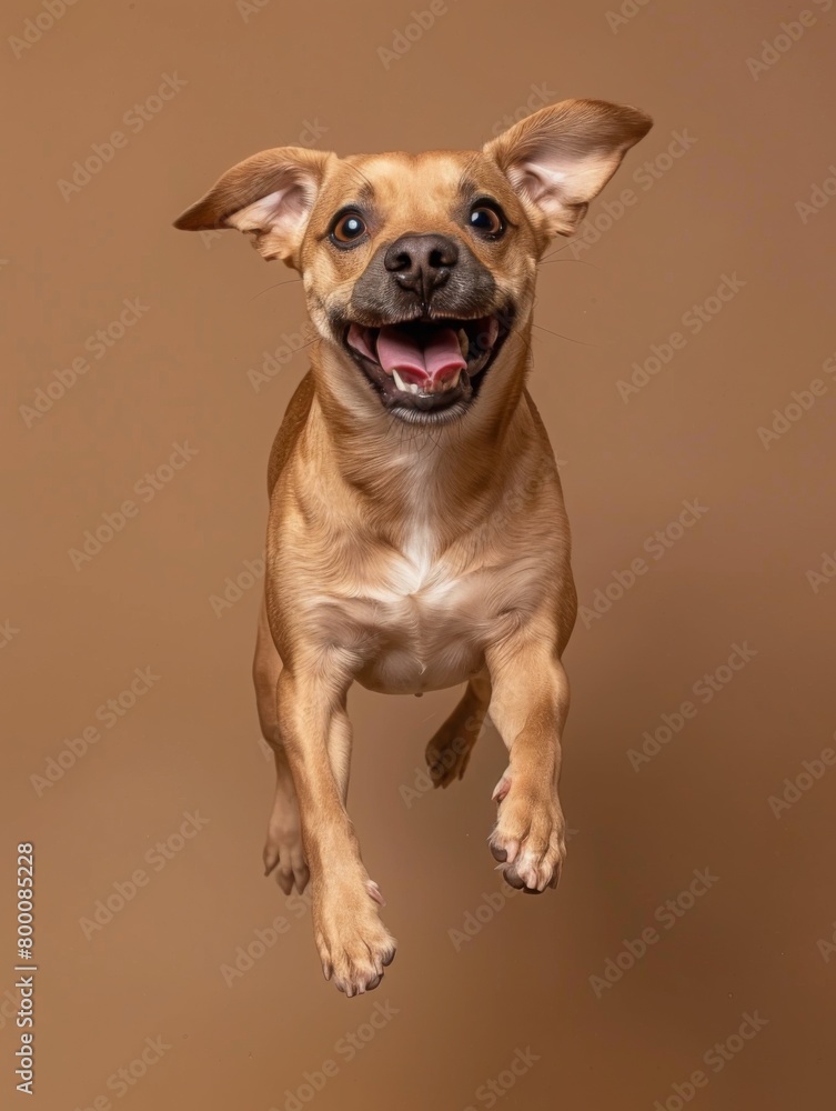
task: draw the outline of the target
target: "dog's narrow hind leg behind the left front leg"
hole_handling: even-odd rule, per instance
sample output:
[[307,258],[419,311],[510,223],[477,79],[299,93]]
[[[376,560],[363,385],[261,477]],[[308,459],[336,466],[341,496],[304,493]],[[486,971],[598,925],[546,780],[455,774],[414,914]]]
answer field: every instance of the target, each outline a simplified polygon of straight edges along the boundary
[[282,661],[273,643],[268,624],[266,607],[262,601],[259,614],[259,632],[253,659],[253,683],[259,721],[264,740],[273,750],[275,760],[275,794],[268,823],[264,842],[264,874],[276,870],[276,881],[289,895],[295,883],[300,893],[308,885],[309,871],[302,851],[302,828],[299,820],[299,803],[293,785],[288,757],[279,735],[279,719],[275,712],[275,684],[282,670]]

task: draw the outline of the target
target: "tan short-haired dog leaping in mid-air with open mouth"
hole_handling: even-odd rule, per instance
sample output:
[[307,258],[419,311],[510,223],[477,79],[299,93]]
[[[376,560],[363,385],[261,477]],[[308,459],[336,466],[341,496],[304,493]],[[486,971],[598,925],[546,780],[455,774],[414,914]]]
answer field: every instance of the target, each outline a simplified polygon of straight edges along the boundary
[[576,594],[557,467],[526,388],[538,263],[652,120],[564,100],[480,150],[263,150],[175,221],[234,228],[301,274],[311,369],[270,456],[253,663],[276,787],[264,868],[312,881],[325,979],[381,982],[395,941],[346,810],[354,681],[466,683],[426,748],[461,778],[488,714],[508,750],[488,843],[505,880],[554,888]]

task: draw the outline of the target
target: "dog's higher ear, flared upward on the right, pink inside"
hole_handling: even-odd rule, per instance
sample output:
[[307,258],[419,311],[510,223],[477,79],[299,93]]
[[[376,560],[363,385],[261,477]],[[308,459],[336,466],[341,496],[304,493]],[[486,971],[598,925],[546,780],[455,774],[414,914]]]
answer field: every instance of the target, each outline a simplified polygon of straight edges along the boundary
[[571,236],[634,143],[653,127],[637,108],[562,100],[503,131],[483,148],[550,234]]

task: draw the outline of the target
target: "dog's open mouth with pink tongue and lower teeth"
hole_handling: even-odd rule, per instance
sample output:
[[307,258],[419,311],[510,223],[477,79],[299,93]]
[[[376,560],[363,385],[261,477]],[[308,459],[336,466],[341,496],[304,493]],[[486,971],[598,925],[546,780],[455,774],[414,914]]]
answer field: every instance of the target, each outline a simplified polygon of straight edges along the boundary
[[510,329],[508,313],[433,317],[380,328],[352,323],[344,342],[391,412],[437,421],[465,411]]

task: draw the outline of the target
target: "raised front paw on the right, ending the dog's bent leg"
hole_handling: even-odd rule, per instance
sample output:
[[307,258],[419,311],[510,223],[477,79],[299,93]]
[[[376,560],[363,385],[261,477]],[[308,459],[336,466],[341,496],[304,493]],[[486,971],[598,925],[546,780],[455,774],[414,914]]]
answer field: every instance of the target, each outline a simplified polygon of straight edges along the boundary
[[506,772],[494,798],[500,813],[488,844],[505,881],[530,894],[556,888],[566,857],[566,823],[557,797],[524,798]]

